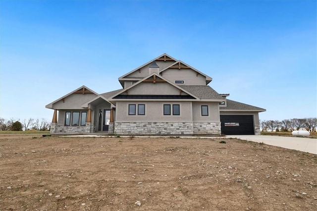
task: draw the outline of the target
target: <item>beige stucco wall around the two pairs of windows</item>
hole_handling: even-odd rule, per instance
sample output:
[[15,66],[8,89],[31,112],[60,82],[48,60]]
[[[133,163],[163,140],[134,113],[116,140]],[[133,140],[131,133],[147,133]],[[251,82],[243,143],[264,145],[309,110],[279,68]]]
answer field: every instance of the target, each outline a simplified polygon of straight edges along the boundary
[[[129,104],[145,104],[145,115],[128,115],[128,105]],[[180,115],[163,115],[163,105],[180,105]],[[159,121],[192,121],[192,103],[191,102],[120,102],[116,104],[116,116],[115,121],[118,122],[159,122]],[[137,109],[136,109],[137,113]]]

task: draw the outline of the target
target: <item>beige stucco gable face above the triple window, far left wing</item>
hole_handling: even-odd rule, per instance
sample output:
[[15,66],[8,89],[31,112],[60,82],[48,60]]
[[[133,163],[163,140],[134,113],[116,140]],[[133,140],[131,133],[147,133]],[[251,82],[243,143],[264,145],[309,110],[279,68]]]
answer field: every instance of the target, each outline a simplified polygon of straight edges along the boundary
[[73,93],[63,100],[53,104],[53,109],[82,109],[82,105],[95,98],[95,94],[76,94]]

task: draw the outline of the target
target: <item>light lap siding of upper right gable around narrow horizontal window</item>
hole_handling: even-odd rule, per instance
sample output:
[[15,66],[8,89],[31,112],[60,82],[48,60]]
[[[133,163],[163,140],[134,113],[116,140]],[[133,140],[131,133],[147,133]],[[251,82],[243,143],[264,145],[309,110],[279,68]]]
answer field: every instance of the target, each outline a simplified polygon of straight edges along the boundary
[[169,68],[161,72],[161,75],[172,83],[180,80],[184,81],[182,85],[206,85],[206,77],[197,75],[197,72],[192,69]]

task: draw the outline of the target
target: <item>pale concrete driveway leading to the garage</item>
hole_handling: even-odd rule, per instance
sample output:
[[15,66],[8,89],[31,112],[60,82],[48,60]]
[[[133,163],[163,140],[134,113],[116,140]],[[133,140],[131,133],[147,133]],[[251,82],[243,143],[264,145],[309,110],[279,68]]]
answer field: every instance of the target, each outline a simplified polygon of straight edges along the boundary
[[226,138],[238,138],[246,141],[264,143],[271,146],[312,153],[317,155],[317,139],[284,137],[284,136],[256,136],[256,135],[227,135]]

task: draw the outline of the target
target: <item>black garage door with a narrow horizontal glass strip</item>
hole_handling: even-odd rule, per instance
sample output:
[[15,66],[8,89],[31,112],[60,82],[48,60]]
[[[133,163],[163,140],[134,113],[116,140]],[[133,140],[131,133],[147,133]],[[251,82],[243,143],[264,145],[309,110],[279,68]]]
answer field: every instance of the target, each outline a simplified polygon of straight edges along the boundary
[[221,134],[254,135],[253,115],[220,115]]

